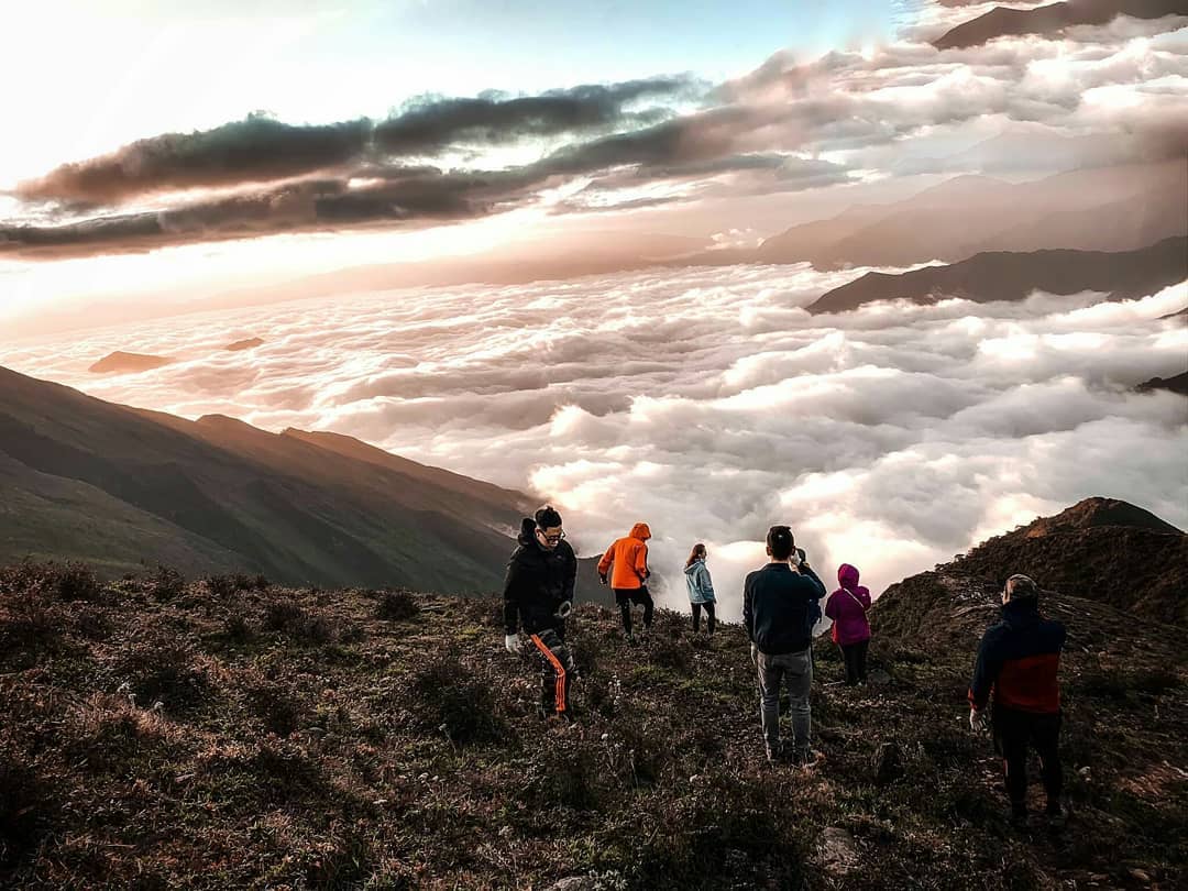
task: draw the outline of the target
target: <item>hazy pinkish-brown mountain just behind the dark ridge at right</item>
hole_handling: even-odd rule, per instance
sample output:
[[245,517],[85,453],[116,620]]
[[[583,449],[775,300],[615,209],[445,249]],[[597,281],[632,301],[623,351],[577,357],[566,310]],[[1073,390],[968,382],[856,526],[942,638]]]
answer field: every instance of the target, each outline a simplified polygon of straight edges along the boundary
[[1136,251],[1186,233],[1188,166],[1169,162],[1018,184],[959,176],[904,201],[794,226],[764,241],[751,261],[909,266],[987,251]]

